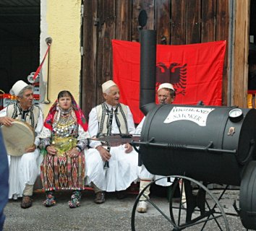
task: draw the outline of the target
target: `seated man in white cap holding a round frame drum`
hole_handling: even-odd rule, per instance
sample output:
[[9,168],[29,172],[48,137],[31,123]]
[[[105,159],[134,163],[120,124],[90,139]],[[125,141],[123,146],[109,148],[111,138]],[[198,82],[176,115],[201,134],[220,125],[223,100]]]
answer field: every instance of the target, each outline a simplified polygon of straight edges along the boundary
[[[0,111],[0,124],[12,126],[12,122],[19,119],[29,123],[36,135],[40,134],[43,128],[43,113],[38,106],[33,105],[33,86],[19,80],[13,85],[10,94],[17,96],[17,102]],[[36,136],[33,147],[25,149],[22,156],[8,155],[9,199],[22,197],[23,209],[32,206],[33,185],[38,177],[39,142]]]

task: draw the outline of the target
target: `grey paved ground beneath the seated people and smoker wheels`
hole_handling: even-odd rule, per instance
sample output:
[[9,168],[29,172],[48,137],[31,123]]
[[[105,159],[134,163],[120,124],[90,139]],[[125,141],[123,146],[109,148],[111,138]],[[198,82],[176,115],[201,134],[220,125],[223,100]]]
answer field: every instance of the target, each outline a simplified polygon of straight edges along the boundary
[[[218,196],[218,191],[212,192]],[[20,200],[10,200],[4,209],[4,213],[6,214],[4,231],[132,230],[132,207],[135,204],[136,195],[129,194],[126,199],[118,200],[116,199],[115,193],[108,193],[106,195],[106,202],[98,205],[93,202],[93,191],[84,191],[82,193],[82,205],[77,209],[69,209],[67,201],[69,200],[70,193],[70,191],[57,192],[57,204],[51,208],[43,206],[44,193],[41,191],[34,193],[33,206],[29,209],[21,209]],[[239,191],[233,190],[228,191],[224,195],[221,204],[226,213],[235,213],[232,204],[234,200],[238,199],[238,194]],[[153,195],[152,201],[164,214],[167,215],[167,217],[170,217],[169,205],[166,197]],[[176,204],[176,206],[178,206],[178,204]],[[198,215],[199,212],[195,212],[195,214]],[[174,212],[174,216],[176,215],[177,212]],[[181,217],[184,219],[184,214],[182,214]],[[239,217],[227,215],[227,218],[230,230],[246,230],[242,226]],[[221,220],[223,220],[223,217],[220,219],[220,223],[223,224]],[[199,225],[194,225],[186,230],[200,230],[199,227]],[[161,215],[152,205],[150,205],[148,213],[146,214],[135,213],[135,228],[140,231],[173,230],[173,226],[167,222],[163,215]],[[208,227],[205,227],[204,230],[219,229],[215,222],[208,222]]]

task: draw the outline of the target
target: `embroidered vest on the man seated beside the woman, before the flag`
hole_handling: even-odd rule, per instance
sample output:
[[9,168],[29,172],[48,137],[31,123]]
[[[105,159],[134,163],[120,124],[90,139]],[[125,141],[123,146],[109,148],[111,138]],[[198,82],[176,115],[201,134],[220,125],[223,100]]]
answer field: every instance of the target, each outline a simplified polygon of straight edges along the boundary
[[[98,117],[98,135],[108,134],[108,108],[106,103],[102,103],[96,106],[97,117]],[[127,126],[127,106],[119,103],[114,111],[116,118],[116,124],[119,126],[121,134],[128,133]]]

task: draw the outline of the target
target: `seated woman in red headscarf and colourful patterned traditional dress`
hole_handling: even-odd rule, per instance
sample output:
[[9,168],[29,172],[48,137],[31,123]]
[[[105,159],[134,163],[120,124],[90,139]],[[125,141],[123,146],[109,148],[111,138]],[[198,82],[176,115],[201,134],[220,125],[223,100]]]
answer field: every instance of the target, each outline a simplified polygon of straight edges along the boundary
[[40,176],[46,191],[43,202],[46,207],[56,204],[54,191],[57,189],[73,190],[69,207],[80,206],[85,183],[83,150],[88,144],[87,130],[88,123],[74,97],[68,91],[59,92],[40,134],[44,154]]

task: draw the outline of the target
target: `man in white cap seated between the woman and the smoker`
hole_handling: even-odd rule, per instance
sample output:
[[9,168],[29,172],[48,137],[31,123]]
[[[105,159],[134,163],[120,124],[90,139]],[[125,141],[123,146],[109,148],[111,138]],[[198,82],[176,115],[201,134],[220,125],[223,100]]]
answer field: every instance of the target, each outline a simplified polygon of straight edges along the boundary
[[[89,115],[90,136],[111,134],[134,134],[135,124],[127,105],[119,103],[119,87],[109,80],[102,84],[105,102],[93,108]],[[85,170],[87,183],[95,190],[95,203],[105,201],[105,191],[117,191],[118,198],[123,198],[122,191],[137,180],[139,175],[138,155],[130,144],[111,147],[108,152],[100,141],[91,141],[85,152]],[[109,167],[103,168],[108,161]]]

